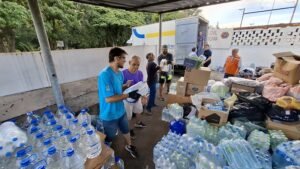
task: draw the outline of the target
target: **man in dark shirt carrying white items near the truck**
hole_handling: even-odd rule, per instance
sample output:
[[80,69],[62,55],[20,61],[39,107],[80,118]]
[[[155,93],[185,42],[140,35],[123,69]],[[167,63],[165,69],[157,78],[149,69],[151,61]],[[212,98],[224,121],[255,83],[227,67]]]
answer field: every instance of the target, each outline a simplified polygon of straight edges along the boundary
[[164,101],[162,96],[162,91],[164,87],[164,83],[167,84],[167,92],[169,92],[170,84],[172,80],[172,68],[173,68],[173,55],[168,52],[168,46],[163,45],[163,52],[158,56],[158,65],[161,68],[160,76],[159,76],[159,96],[160,100]]

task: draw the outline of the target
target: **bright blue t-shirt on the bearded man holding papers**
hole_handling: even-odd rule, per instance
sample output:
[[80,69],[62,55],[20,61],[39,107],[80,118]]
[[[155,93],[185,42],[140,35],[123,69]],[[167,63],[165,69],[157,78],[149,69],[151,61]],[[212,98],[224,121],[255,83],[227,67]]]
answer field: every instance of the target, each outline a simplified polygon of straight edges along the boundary
[[123,74],[117,73],[111,67],[106,67],[98,75],[100,119],[105,121],[116,120],[125,113],[123,101],[107,103],[105,98],[123,93]]

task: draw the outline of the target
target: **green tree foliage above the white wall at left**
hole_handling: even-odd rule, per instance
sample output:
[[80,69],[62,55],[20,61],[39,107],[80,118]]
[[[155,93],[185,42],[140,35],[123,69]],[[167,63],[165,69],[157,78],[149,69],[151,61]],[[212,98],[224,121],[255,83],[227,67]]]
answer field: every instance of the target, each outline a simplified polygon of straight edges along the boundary
[[[74,3],[39,0],[52,50],[57,41],[65,48],[96,48],[126,45],[131,27],[158,21],[157,14]],[[195,10],[194,10],[195,11]],[[163,20],[193,15],[190,10],[164,14]],[[0,1],[0,52],[38,50],[27,0]]]

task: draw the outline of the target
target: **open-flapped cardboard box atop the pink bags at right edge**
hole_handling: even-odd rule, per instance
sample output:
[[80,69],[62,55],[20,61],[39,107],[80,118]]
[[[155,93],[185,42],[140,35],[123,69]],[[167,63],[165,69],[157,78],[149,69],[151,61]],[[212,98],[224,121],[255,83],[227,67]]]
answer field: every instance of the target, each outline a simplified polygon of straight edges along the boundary
[[300,80],[300,56],[292,52],[273,54],[276,57],[274,75],[294,85]]

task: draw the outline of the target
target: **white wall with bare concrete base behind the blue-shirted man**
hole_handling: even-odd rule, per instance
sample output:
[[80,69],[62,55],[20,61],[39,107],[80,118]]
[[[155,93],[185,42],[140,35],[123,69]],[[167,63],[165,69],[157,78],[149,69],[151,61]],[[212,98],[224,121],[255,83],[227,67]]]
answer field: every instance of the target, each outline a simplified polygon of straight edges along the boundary
[[[108,66],[110,48],[53,51],[59,82],[66,105],[74,112],[97,104],[97,75]],[[157,53],[155,46],[123,47],[131,56],[141,57],[140,70],[147,78],[145,58]],[[53,107],[55,104],[43,58],[39,52],[0,54],[0,121],[28,111]]]

